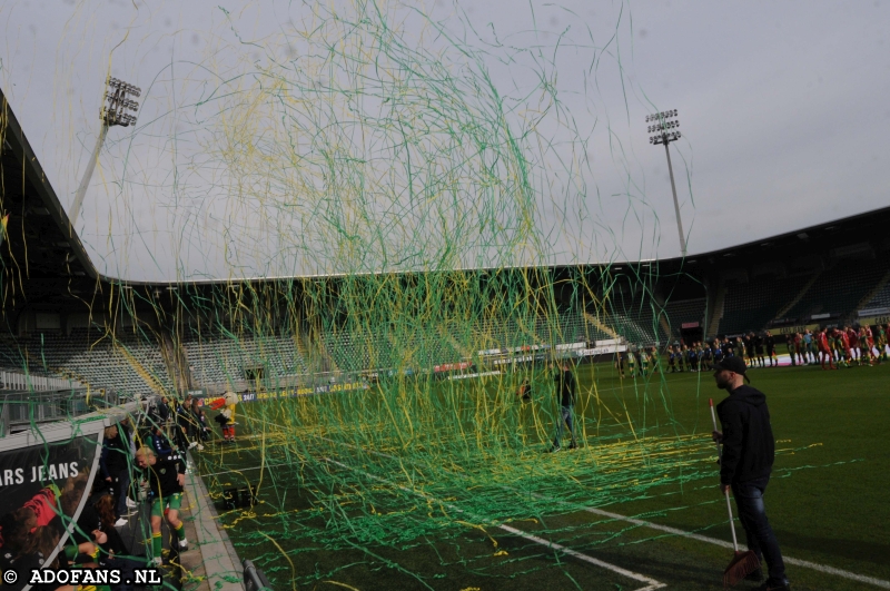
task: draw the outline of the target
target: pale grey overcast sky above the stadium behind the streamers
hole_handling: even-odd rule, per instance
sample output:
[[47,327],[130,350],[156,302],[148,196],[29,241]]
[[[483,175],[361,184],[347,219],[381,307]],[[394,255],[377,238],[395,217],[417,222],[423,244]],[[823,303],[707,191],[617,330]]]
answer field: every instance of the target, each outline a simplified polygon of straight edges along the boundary
[[[376,139],[350,140],[354,160],[384,151],[390,160],[363,160],[364,168],[349,164],[332,173],[358,171],[362,186],[373,180],[370,203],[350,195],[343,198],[346,205],[323,205],[325,191],[334,190],[319,188],[330,183],[324,173],[273,175],[275,181],[265,184],[265,171],[280,170],[288,155],[318,164],[312,141],[285,149],[289,131],[276,122],[281,119],[269,100],[274,77],[268,75],[284,71],[277,65],[288,60],[303,68],[283,78],[281,92],[300,105],[295,108],[307,120],[317,116],[305,128],[316,130],[339,111],[323,112],[314,95],[297,92],[305,88],[299,82],[339,85],[343,93],[349,80],[349,68],[336,59],[312,61],[315,43],[324,40],[294,33],[322,24],[310,6],[0,4],[0,86],[65,206],[75,199],[100,129],[107,72],[144,89],[137,126],[109,132],[77,224],[100,272],[187,279],[673,257],[680,248],[664,149],[649,144],[644,121],[657,109],[680,111],[683,139],[671,150],[690,254],[890,201],[888,2],[492,0],[457,8],[431,3],[424,9],[429,20],[394,8],[385,18],[416,50],[411,56],[439,56],[462,88],[488,78],[503,105],[516,106],[504,116],[505,125],[532,131],[518,146],[527,152],[524,161],[534,165],[528,180],[534,204],[523,209],[524,197],[511,193],[505,180],[486,201],[500,208],[494,213],[477,211],[466,200],[488,186],[483,173],[492,155],[482,152],[478,162],[459,165],[467,169],[451,181],[466,183],[454,210],[443,213],[436,196],[417,205],[400,160],[418,154],[435,158],[437,148],[431,146],[439,144],[434,137],[419,151],[399,152],[392,145],[398,121],[393,130],[372,134]],[[355,13],[348,2],[336,11]],[[434,35],[433,24],[442,32]],[[330,41],[338,29],[328,26]],[[458,41],[445,41],[442,33]],[[455,51],[458,47],[471,48],[473,59]],[[344,51],[358,62],[377,50]],[[333,63],[347,73],[332,70],[327,80],[324,72],[305,69],[313,63]],[[490,125],[497,137],[497,125],[478,116],[492,106],[486,92],[446,93],[439,107],[459,104],[455,127]],[[551,106],[530,124],[553,97],[560,108]],[[382,102],[372,97],[357,109],[373,111],[378,121]],[[422,120],[417,105],[400,117]],[[335,106],[353,117],[352,106]],[[238,144],[239,134],[247,144],[277,147],[251,149]],[[459,151],[466,141],[458,139]],[[476,152],[467,150],[471,161]],[[505,178],[518,167],[508,151],[495,148],[491,164]],[[458,166],[454,151],[445,159]],[[434,169],[429,165],[428,178]],[[387,178],[395,179],[392,195]],[[469,214],[462,217],[461,210]],[[526,217],[534,219],[531,234],[541,240],[533,247],[525,244]],[[501,229],[484,229],[488,224]],[[478,232],[471,237],[474,227]],[[490,238],[500,240],[496,247]],[[465,253],[446,255],[449,244]],[[349,253],[355,245],[373,255],[357,257]],[[329,253],[318,256],[323,249]]]

